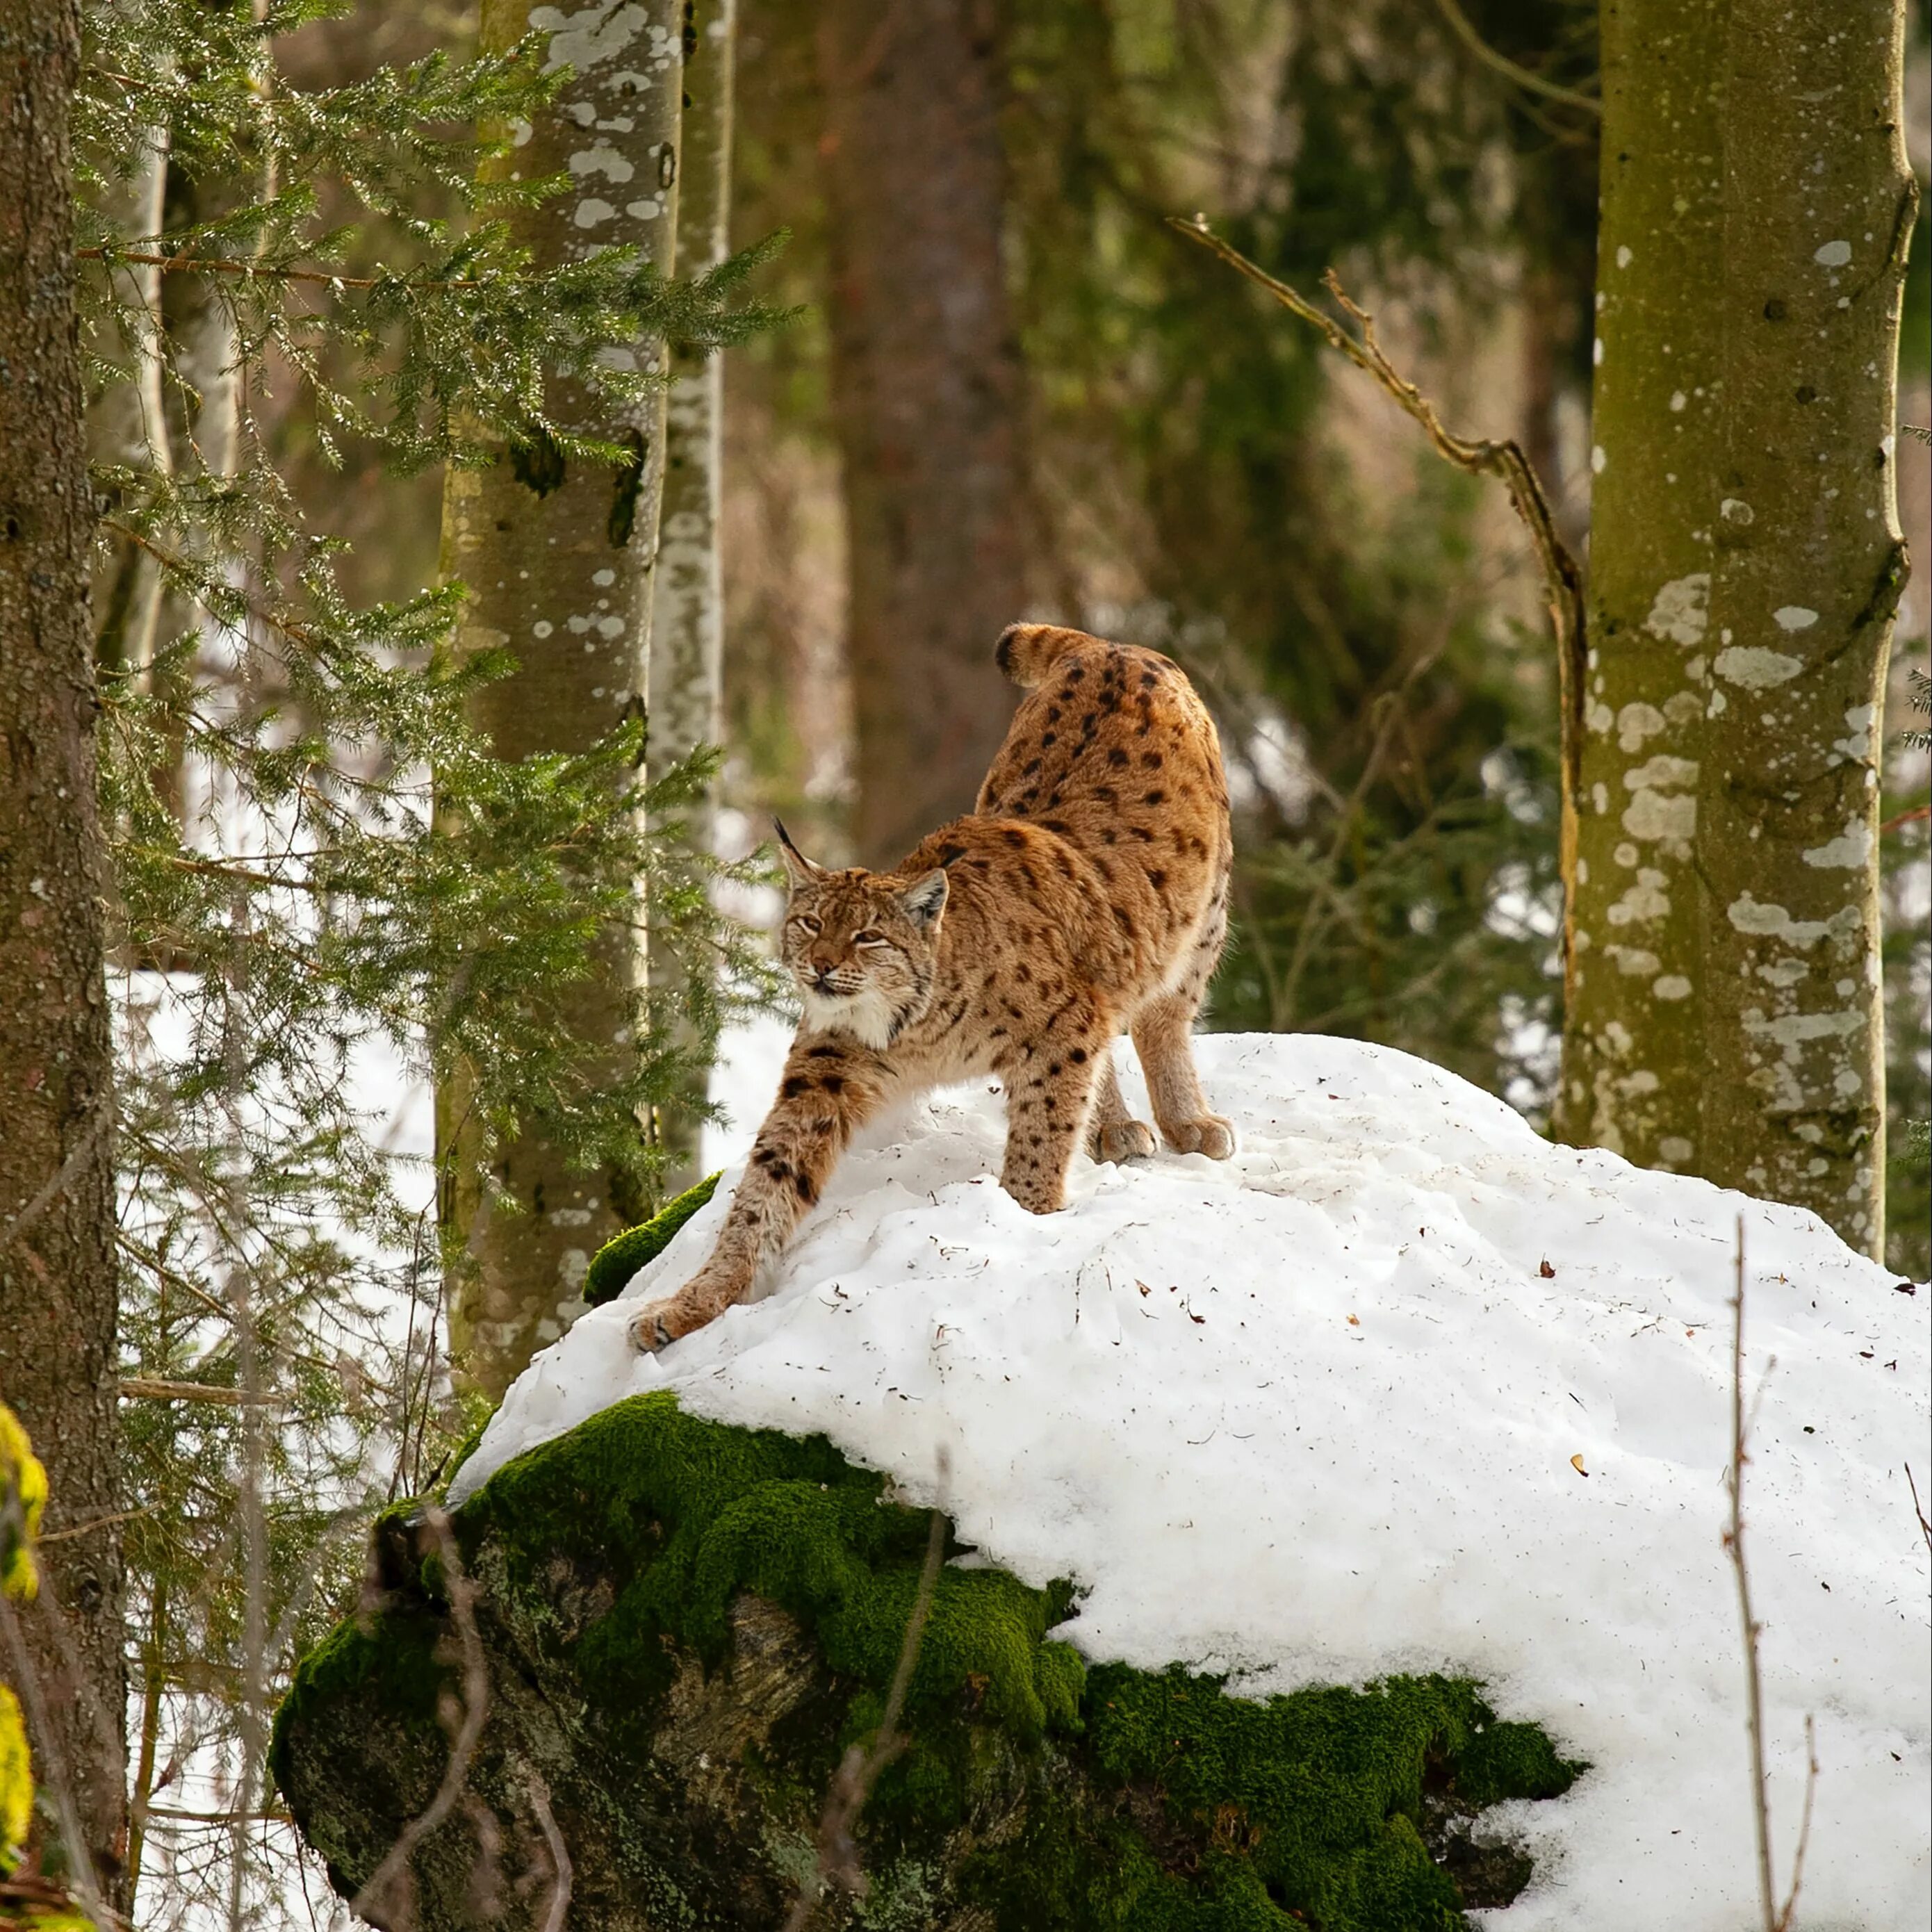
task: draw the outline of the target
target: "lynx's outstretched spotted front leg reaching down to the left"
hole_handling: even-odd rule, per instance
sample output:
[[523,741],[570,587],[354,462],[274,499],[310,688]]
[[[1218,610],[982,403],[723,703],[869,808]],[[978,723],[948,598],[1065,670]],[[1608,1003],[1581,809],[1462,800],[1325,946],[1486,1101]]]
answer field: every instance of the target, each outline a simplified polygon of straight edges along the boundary
[[817,1206],[846,1142],[893,1086],[895,1074],[871,1049],[800,1034],[711,1258],[676,1294],[645,1302],[630,1318],[641,1354],[701,1329],[752,1293],[759,1267]]

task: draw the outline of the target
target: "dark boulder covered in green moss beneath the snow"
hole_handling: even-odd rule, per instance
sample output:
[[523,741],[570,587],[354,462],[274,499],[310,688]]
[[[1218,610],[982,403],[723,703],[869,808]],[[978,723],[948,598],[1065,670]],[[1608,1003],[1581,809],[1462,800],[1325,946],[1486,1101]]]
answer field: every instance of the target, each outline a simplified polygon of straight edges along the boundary
[[[574,1926],[782,1924],[838,1758],[879,1721],[927,1522],[823,1437],[703,1422],[668,1393],[498,1470],[452,1517],[487,1719],[377,1922],[541,1924],[547,1808]],[[1047,1636],[1070,1607],[1065,1586],[941,1573],[912,1743],[858,1830],[866,1895],[827,1895],[815,1926],[1451,1932],[1528,1878],[1468,1820],[1580,1770],[1470,1683],[1250,1700],[1088,1667]],[[390,1513],[365,1605],[298,1669],[270,1754],[344,1895],[444,1781],[462,1685],[446,1563]]]

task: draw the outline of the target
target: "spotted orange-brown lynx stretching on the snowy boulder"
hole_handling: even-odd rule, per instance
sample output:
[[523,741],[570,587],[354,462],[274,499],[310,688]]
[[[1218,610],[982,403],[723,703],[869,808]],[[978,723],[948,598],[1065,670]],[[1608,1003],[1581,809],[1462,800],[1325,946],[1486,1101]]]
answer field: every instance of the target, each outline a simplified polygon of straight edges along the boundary
[[744,1300],[860,1122],[922,1088],[1001,1080],[999,1179],[1034,1213],[1063,1204],[1082,1138],[1095,1159],[1153,1151],[1113,1070],[1126,1030],[1167,1144],[1233,1151],[1188,1047],[1227,931],[1213,721],[1177,665],[1086,632],[1014,624],[999,667],[1032,696],[970,817],[883,873],[813,866],[779,827],[804,1018],[717,1246],[632,1318],[639,1349]]

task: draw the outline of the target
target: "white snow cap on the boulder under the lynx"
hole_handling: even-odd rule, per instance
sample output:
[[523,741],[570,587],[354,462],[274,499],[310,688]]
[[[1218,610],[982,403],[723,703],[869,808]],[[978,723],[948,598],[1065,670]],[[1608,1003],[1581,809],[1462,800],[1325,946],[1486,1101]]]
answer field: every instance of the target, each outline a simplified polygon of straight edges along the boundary
[[[717,1090],[734,1151],[779,1047],[740,1041]],[[1565,1799],[1490,1814],[1536,1859],[1509,1932],[1735,1932],[1756,1920],[1721,1546],[1743,1213],[1779,1868],[1814,1714],[1801,1922],[1926,1924],[1928,1553],[1903,1468],[1924,1493],[1926,1294],[1804,1211],[1549,1146],[1403,1053],[1198,1053],[1231,1161],[1080,1159],[1068,1208],[1036,1219],[995,1179],[999,1099],[949,1090],[854,1148],[771,1298],[634,1358],[628,1302],[697,1265],[728,1173],[529,1366],[458,1490],[653,1387],[823,1430],[914,1501],[947,1451],[960,1534],[1028,1582],[1072,1577],[1063,1634],[1090,1658],[1256,1694],[1468,1673],[1588,1758]]]

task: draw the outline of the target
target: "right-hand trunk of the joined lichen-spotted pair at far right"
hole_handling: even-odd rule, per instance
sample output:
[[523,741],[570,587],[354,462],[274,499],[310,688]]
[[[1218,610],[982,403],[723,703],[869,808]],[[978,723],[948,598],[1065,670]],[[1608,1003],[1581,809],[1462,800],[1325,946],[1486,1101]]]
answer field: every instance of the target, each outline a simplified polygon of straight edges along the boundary
[[1733,0],[1725,68],[1723,373],[1745,408],[1706,518],[1719,649],[1696,858],[1706,1057],[1735,1074],[1704,1090],[1702,1167],[1884,1260],[1903,0]]

